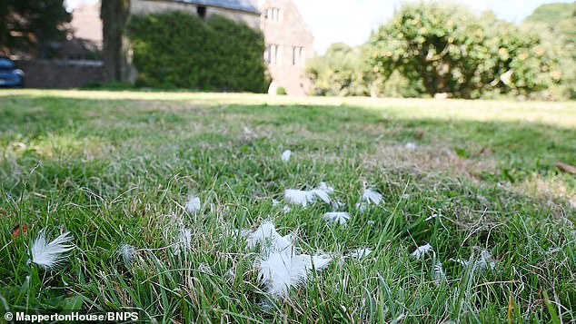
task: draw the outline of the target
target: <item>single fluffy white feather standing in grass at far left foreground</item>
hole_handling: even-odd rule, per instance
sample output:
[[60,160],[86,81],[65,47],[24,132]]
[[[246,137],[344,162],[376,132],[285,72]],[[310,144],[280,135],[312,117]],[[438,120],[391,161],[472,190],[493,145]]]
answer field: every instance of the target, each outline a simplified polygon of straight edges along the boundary
[[67,231],[48,243],[45,232],[40,231],[30,248],[32,263],[44,269],[54,270],[65,259],[64,253],[74,249],[73,244],[67,244],[72,239],[70,232]]

